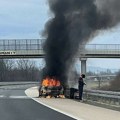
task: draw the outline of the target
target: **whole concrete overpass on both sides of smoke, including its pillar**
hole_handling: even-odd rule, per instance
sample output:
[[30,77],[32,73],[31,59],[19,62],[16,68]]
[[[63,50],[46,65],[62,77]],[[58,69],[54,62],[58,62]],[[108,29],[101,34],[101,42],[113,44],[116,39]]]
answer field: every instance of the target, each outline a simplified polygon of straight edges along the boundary
[[[44,39],[0,40],[0,59],[44,58]],[[120,58],[120,44],[80,45],[76,57],[81,60],[81,72],[86,73],[87,58]]]

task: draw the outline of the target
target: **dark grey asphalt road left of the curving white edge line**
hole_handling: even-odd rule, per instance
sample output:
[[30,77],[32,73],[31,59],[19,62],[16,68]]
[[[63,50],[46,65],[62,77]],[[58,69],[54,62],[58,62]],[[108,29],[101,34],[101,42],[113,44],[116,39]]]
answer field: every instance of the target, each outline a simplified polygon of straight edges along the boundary
[[74,120],[28,98],[32,85],[0,86],[0,120]]

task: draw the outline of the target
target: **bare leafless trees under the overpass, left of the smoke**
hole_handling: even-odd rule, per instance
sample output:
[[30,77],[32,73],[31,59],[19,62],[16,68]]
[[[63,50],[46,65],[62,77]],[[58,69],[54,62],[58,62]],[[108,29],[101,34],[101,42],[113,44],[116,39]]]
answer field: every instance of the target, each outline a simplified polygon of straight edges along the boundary
[[35,61],[28,59],[0,59],[0,82],[40,81],[41,69]]

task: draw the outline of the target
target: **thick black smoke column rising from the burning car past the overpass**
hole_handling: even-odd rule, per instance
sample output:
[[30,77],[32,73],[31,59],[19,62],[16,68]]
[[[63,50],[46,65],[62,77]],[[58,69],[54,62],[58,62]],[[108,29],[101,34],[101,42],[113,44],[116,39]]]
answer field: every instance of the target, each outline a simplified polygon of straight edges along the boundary
[[120,21],[119,0],[48,0],[51,19],[44,36],[44,75],[61,82],[67,75],[79,45],[86,44],[99,30],[109,29]]

